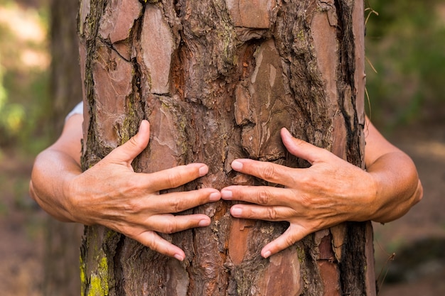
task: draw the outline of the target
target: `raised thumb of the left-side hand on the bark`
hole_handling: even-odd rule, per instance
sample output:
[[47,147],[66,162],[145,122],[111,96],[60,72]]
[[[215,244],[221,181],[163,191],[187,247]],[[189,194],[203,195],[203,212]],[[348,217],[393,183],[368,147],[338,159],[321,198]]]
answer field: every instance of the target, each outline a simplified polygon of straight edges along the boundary
[[113,163],[126,163],[130,165],[134,158],[139,155],[149,144],[150,124],[149,121],[141,121],[139,131],[129,141],[117,147],[107,155],[107,160]]

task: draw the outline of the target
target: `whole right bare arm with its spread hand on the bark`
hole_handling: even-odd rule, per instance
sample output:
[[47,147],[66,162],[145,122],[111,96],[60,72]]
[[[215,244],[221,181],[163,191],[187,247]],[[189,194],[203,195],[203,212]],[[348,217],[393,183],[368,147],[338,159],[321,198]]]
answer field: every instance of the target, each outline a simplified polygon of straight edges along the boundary
[[397,219],[422,199],[422,185],[412,160],[388,143],[370,123],[366,171],[328,150],[293,138],[285,128],[282,141],[291,154],[308,160],[311,167],[287,168],[256,160],[234,160],[234,170],[285,188],[230,186],[221,190],[223,199],[251,203],[232,206],[232,216],[289,221],[289,229],[264,246],[264,257],[343,221]]

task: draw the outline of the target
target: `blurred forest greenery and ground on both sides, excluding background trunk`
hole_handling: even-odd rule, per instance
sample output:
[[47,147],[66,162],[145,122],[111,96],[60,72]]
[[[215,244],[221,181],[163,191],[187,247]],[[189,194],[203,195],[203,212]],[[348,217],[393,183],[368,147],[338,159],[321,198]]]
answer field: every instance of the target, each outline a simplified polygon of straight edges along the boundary
[[[445,3],[366,4],[368,116],[412,156],[425,187],[409,214],[375,225],[380,295],[445,295]],[[28,182],[33,158],[60,131],[54,119],[65,116],[51,90],[50,7],[50,0],[0,0],[2,295],[43,295],[48,217],[28,197]]]

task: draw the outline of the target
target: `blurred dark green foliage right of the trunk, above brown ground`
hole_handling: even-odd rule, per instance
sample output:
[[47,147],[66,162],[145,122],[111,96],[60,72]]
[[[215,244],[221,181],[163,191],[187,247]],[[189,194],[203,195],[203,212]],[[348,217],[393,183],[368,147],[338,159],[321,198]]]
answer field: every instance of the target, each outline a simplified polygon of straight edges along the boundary
[[377,70],[368,65],[372,121],[391,127],[443,119],[445,4],[370,0],[368,6],[378,13],[370,15],[366,36]]

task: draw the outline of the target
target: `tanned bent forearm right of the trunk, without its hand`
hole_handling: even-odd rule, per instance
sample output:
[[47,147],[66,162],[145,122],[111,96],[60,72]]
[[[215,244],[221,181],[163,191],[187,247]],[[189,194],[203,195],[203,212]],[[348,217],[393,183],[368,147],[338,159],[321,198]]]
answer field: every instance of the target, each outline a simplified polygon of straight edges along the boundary
[[398,219],[422,199],[416,167],[402,151],[380,156],[368,167],[368,172],[376,184],[370,220],[386,223]]

